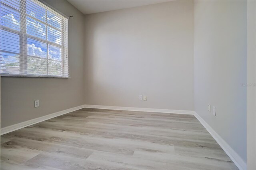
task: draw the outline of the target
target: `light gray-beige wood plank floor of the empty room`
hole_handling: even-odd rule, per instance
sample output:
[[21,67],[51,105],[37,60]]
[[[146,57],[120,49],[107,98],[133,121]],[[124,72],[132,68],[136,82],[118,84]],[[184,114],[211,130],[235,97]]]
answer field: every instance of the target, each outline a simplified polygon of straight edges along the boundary
[[192,115],[84,108],[1,136],[1,170],[237,169]]

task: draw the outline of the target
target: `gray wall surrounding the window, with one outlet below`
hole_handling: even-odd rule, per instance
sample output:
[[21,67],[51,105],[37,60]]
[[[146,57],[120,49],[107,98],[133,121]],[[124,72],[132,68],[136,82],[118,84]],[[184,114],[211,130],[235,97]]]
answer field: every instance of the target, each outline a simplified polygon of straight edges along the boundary
[[[2,77],[1,127],[84,104],[84,15],[67,1],[47,3],[74,16],[68,24],[71,78]],[[34,108],[34,100],[40,100],[38,108]]]

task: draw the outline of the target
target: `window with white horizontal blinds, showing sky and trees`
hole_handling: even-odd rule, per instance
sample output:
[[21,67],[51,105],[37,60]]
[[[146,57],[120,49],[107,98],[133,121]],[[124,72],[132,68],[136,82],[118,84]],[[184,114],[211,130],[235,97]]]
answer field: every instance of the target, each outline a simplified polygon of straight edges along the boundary
[[38,0],[0,0],[0,74],[68,77],[68,19]]

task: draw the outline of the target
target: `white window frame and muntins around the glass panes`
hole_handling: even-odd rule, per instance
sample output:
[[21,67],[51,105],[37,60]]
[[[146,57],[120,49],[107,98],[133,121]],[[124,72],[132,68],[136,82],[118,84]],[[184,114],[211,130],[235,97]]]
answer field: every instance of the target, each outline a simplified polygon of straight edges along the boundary
[[[8,26],[3,26],[0,24],[0,30],[5,30],[14,34],[18,34],[19,36],[19,45],[20,45],[20,49],[19,49],[19,53],[16,52],[12,52],[12,51],[8,51],[8,50],[2,50],[0,49],[0,52],[6,52],[6,53],[10,53],[10,54],[16,54],[19,55],[19,74],[14,74],[14,73],[0,73],[0,76],[5,76],[5,77],[46,77],[46,78],[70,78],[69,76],[69,68],[68,68],[68,23],[65,22],[64,18],[67,18],[66,16],[63,16],[63,14],[60,14],[60,12],[56,11],[54,8],[51,8],[50,6],[42,3],[41,1],[37,0],[40,4],[40,6],[42,8],[45,9],[45,16],[46,16],[46,22],[39,20],[38,18],[31,16],[29,14],[27,14],[26,12],[26,1],[27,0],[19,0],[19,9],[14,8],[13,6],[6,4],[2,1],[0,1],[1,6],[5,6],[8,7],[12,10],[15,10],[19,13],[20,17],[19,17],[19,30],[15,30],[13,28],[9,28]],[[60,16],[63,16],[63,18],[61,19],[61,28],[57,28],[55,26],[52,26],[51,24],[48,24],[48,11],[52,13],[52,11],[48,10],[48,8],[50,8],[51,10],[53,10],[54,12],[58,13]],[[23,19],[21,19],[23,18]],[[40,24],[44,24],[46,27],[46,39],[42,39],[30,34],[27,34],[27,18],[30,18],[32,20],[35,20],[36,22],[39,22]],[[65,29],[66,27],[66,29]],[[61,44],[58,44],[56,42],[51,42],[50,40],[48,40],[48,28],[53,28],[57,31],[60,32],[61,35]],[[66,35],[65,35],[66,34]],[[46,58],[42,58],[42,57],[38,57],[38,56],[31,56],[28,54],[28,38],[32,39],[32,40],[36,40],[40,43],[45,43],[47,46],[47,51],[46,51]],[[61,49],[61,60],[54,60],[51,59],[49,57],[49,45],[51,46],[56,46],[58,48]],[[30,58],[38,58],[38,59],[42,59],[42,60],[46,60],[46,74],[28,74],[28,57]],[[22,60],[24,60],[24,62],[21,62]],[[54,62],[59,62],[61,64],[61,76],[59,75],[53,75],[53,74],[49,74],[49,70],[48,70],[48,62],[49,61],[54,61]],[[66,66],[65,66],[66,65]]]

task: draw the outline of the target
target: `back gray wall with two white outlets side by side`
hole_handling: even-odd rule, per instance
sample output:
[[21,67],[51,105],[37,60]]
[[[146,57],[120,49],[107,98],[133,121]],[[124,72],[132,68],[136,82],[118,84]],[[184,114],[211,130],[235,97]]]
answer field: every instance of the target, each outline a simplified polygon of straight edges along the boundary
[[86,104],[194,110],[193,1],[89,14],[84,29]]

